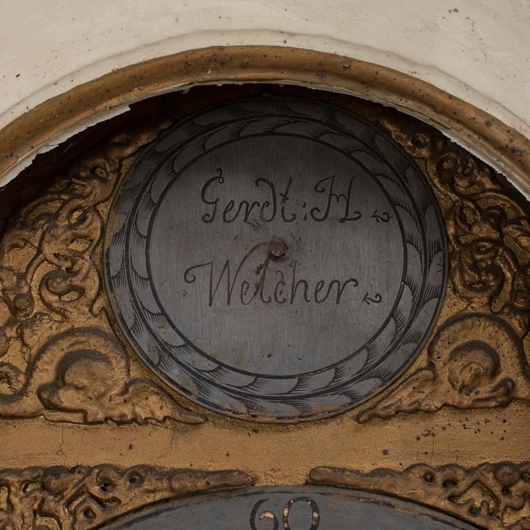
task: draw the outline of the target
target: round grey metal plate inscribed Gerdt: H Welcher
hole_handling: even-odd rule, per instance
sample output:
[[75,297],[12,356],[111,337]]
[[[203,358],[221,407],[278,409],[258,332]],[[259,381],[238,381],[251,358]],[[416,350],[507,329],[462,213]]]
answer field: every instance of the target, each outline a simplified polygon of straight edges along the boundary
[[304,420],[410,364],[444,293],[420,171],[372,124],[297,99],[181,122],[112,207],[106,282],[139,356],[210,409]]

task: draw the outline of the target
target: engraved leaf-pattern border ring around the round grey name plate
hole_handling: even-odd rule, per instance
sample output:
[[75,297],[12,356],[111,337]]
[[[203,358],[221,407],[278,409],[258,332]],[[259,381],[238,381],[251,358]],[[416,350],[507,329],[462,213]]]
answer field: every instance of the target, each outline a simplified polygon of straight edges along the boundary
[[[400,216],[400,224],[406,242],[406,270],[412,259],[418,259],[421,274],[404,274],[400,300],[385,330],[402,325],[400,331],[391,333],[390,340],[389,333],[380,333],[361,351],[310,373],[251,374],[196,349],[166,317],[150,288],[148,225],[164,189],[178,174],[173,167],[177,157],[179,166],[184,167],[202,155],[206,146],[249,135],[288,135],[289,127],[300,121],[313,126],[311,139],[348,157],[362,150],[375,161],[376,167],[362,165],[386,190],[393,208],[405,215],[406,223]],[[336,141],[337,134],[347,139],[341,146],[326,141],[326,135]],[[377,146],[384,146],[385,157]],[[393,153],[392,165],[389,153]],[[104,261],[110,304],[119,326],[159,377],[194,402],[225,415],[300,421],[351,409],[403,373],[420,352],[438,316],[448,259],[438,203],[413,161],[368,121],[327,104],[288,99],[224,104],[168,130],[139,157],[119,188],[108,219]]]

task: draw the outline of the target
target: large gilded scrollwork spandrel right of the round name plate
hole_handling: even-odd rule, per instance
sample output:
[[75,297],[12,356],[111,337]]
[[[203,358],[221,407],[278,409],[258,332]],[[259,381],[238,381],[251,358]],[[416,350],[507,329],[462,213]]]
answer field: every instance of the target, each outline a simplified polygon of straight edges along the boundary
[[[384,122],[424,168],[444,210],[449,277],[464,308],[429,344],[429,365],[358,416],[473,409],[530,400],[524,339],[530,318],[528,206],[502,177],[439,133]],[[451,288],[449,286],[449,289]]]

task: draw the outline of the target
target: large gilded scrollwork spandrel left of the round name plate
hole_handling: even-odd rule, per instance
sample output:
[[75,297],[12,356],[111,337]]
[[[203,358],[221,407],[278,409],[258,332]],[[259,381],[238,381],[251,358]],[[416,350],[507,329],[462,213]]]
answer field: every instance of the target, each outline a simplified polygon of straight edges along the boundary
[[113,137],[24,205],[0,243],[1,418],[200,423],[158,386],[129,379],[101,301],[99,246],[122,164],[158,123]]

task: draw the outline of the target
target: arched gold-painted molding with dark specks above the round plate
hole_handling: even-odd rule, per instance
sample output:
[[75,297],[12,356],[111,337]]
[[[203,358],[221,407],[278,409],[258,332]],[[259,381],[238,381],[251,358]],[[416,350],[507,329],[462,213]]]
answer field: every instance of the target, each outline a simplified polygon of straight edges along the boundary
[[195,84],[293,83],[348,92],[409,112],[480,152],[530,186],[530,139],[420,79],[351,57],[278,46],[190,50],[121,68],[48,99],[0,130],[0,175],[81,121],[150,95]]

